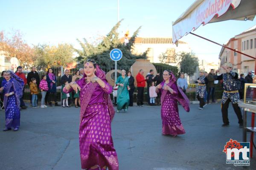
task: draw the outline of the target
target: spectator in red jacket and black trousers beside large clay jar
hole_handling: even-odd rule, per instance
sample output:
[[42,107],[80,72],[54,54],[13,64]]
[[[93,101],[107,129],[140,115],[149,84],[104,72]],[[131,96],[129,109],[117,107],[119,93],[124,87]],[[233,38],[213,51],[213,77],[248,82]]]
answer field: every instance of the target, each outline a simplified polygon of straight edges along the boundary
[[136,81],[137,81],[137,105],[138,106],[143,106],[143,95],[144,95],[144,88],[145,88],[145,81],[148,78],[145,78],[143,76],[144,71],[143,69],[140,69],[139,73],[136,76]]

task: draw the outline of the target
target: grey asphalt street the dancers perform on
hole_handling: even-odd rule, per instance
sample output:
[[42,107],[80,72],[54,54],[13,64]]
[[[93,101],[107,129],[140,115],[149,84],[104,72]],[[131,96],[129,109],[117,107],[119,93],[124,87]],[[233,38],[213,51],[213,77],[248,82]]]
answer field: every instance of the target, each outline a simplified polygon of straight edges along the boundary
[[[190,113],[179,109],[186,134],[177,137],[161,135],[160,106],[134,106],[128,113],[116,113],[112,133],[120,170],[243,169],[227,165],[222,152],[230,138],[242,141],[231,105],[229,127],[221,127],[220,104],[203,111],[191,105]],[[22,111],[19,131],[0,131],[0,170],[80,170],[78,125],[78,108]],[[250,163],[247,169],[255,170],[256,159]]]

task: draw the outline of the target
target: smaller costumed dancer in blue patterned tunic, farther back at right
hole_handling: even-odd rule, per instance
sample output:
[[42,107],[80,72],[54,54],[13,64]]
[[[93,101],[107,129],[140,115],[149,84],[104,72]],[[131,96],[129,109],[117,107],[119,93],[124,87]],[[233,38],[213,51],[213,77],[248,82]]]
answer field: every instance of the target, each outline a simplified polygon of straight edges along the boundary
[[204,96],[205,96],[205,91],[206,91],[206,85],[205,85],[205,75],[204,75],[204,70],[200,70],[200,77],[197,79],[196,83],[198,83],[198,89],[196,91],[196,96],[199,101],[199,108],[203,110],[205,102],[204,102]]

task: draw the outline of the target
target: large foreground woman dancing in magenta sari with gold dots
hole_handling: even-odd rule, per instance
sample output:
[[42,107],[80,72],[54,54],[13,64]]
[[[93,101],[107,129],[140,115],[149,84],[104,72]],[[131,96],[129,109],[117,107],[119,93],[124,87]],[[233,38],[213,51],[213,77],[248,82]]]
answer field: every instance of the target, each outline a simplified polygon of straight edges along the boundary
[[80,91],[81,110],[79,147],[81,167],[85,170],[118,170],[116,150],[111,136],[115,110],[110,99],[112,87],[96,62],[84,63],[84,77],[67,84],[63,91]]

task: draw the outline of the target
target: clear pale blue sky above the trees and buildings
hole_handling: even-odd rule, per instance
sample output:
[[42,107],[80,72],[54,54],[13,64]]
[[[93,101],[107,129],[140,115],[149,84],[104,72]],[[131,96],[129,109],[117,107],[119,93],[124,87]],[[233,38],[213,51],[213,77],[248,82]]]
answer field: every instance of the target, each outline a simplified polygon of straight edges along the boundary
[[[119,0],[119,18],[124,19],[119,36],[132,34],[139,26],[140,37],[172,37],[172,22],[194,0]],[[0,30],[18,29],[30,45],[70,43],[108,34],[117,22],[117,0],[1,0]],[[253,21],[224,21],[199,27],[195,34],[221,44],[256,25]],[[193,35],[181,39],[200,58],[218,62],[221,47]]]

